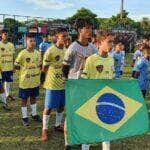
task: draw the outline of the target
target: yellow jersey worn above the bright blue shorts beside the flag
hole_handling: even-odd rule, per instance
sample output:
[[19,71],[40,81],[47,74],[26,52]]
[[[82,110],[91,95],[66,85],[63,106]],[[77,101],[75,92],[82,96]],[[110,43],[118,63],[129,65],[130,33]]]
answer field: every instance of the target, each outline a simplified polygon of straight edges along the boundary
[[44,83],[44,88],[50,90],[64,89],[64,79],[62,73],[65,49],[59,49],[55,45],[51,46],[45,53],[43,65],[48,66],[48,71]]

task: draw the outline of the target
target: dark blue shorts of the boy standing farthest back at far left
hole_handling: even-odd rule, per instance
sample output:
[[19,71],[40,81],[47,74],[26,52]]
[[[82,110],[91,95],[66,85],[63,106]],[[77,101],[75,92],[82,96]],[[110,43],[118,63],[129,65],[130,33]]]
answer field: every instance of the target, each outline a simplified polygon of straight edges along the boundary
[[2,80],[3,82],[13,82],[13,71],[3,71]]

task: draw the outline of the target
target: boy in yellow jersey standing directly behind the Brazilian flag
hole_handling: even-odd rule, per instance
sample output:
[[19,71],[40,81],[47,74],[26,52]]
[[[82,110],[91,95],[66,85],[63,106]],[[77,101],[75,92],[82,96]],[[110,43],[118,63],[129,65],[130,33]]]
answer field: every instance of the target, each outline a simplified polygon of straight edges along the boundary
[[[97,35],[98,53],[87,58],[82,78],[113,79],[114,60],[108,54],[113,47],[113,36],[107,31],[100,31]],[[103,142],[103,150],[110,150],[110,142]]]

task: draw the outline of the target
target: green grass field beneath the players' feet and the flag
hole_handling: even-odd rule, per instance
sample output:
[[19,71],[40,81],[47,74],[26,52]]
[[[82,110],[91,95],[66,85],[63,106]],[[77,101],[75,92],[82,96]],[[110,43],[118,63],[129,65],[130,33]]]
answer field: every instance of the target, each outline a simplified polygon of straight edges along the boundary
[[[131,78],[131,55],[127,56],[126,66],[123,78]],[[23,127],[21,124],[21,106],[18,94],[18,76],[15,75],[13,85],[13,95],[16,97],[14,102],[8,101],[12,108],[11,112],[5,112],[0,105],[0,150],[63,150],[64,139],[63,134],[56,133],[53,130],[55,123],[55,113],[52,113],[49,128],[49,141],[45,144],[41,142],[42,124],[35,123],[30,119],[30,126]],[[147,107],[150,112],[150,97],[146,100]],[[44,90],[41,90],[38,100],[38,112],[42,115],[44,104]],[[28,115],[30,116],[30,107],[28,107]],[[77,147],[73,148],[78,150]],[[100,150],[101,144],[94,145],[91,150]],[[150,132],[123,140],[114,141],[111,144],[112,150],[150,150]]]

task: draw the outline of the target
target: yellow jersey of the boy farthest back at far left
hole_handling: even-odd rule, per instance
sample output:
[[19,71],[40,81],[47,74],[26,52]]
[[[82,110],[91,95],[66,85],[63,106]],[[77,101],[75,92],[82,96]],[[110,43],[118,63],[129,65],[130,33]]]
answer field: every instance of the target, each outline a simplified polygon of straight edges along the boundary
[[0,42],[0,53],[2,57],[2,71],[12,71],[15,48],[10,42]]

